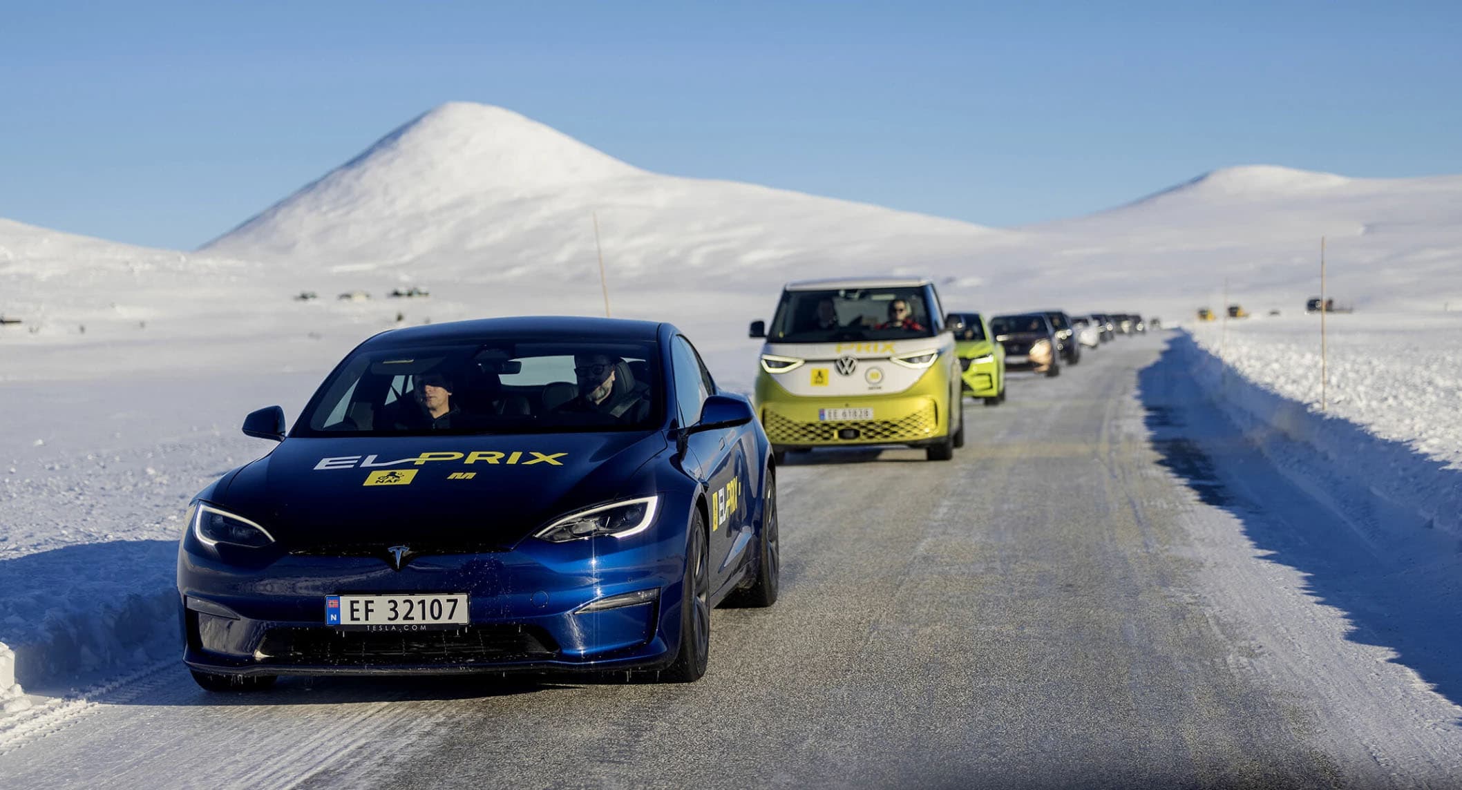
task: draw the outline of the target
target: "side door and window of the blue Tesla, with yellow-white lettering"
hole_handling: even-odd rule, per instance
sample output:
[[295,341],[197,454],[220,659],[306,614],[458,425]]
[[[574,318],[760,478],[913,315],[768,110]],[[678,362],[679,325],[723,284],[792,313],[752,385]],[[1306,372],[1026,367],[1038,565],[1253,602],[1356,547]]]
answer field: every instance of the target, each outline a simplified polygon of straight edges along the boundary
[[[675,336],[671,350],[671,365],[675,375],[675,400],[681,425],[694,425],[700,419],[700,407],[715,391],[711,374],[700,362],[700,355],[684,336]],[[746,543],[746,460],[740,431],[722,428],[692,434],[686,444],[687,463],[694,464],[694,475],[705,483],[706,521],[711,529],[711,572],[712,587],[727,578],[740,565]]]

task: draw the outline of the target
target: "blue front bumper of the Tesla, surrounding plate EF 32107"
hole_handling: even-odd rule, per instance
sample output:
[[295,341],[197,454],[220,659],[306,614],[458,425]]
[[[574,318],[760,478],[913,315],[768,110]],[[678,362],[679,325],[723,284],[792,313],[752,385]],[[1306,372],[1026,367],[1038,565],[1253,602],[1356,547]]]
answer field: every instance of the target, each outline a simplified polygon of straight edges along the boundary
[[[610,540],[617,539],[595,539]],[[235,675],[624,670],[668,666],[680,640],[684,532],[627,551],[525,540],[513,551],[423,555],[396,571],[373,556],[284,555],[257,570],[178,553],[184,663]],[[599,612],[637,590],[658,599]],[[466,593],[471,625],[341,631],[325,596]]]

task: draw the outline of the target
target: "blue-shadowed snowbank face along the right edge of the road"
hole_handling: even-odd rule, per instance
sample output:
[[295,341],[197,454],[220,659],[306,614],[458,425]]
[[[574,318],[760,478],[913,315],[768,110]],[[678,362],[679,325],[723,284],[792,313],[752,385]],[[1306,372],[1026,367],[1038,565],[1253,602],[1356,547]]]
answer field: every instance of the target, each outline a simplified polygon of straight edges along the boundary
[[1227,365],[1186,330],[1173,343],[1190,361],[1192,375],[1276,469],[1291,464],[1288,447],[1275,440],[1300,442],[1351,488],[1368,491],[1396,513],[1415,514],[1417,526],[1462,537],[1462,470],[1412,442],[1383,438],[1370,426],[1279,394]]

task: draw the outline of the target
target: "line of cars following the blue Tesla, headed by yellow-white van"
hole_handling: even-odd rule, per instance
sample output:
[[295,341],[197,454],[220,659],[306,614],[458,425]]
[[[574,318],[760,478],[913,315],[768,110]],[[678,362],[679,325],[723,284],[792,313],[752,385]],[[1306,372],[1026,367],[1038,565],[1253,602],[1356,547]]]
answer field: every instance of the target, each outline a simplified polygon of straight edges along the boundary
[[778,463],[819,447],[904,444],[949,460],[962,396],[999,406],[1006,371],[1058,375],[1082,348],[1143,333],[1136,314],[946,312],[928,279],[788,283],[762,339],[754,402]]

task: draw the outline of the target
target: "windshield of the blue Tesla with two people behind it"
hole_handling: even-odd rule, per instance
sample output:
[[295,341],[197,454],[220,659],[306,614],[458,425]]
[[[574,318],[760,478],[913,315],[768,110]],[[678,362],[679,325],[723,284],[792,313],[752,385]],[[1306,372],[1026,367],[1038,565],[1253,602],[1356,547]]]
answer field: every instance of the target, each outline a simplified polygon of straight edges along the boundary
[[320,387],[303,437],[635,431],[659,425],[654,343],[458,340],[363,350]]

